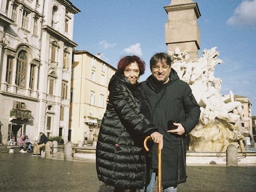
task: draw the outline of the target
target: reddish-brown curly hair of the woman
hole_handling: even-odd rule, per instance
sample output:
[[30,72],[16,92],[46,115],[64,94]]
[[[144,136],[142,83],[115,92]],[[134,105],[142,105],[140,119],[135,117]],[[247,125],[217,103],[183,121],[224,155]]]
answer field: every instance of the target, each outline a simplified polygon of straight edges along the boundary
[[140,75],[142,75],[145,72],[145,62],[142,61],[142,59],[140,59],[140,57],[138,56],[122,57],[122,59],[120,59],[120,61],[117,64],[117,70],[119,70],[119,72],[124,73],[124,69],[126,69],[126,67],[133,62],[137,62],[140,69]]

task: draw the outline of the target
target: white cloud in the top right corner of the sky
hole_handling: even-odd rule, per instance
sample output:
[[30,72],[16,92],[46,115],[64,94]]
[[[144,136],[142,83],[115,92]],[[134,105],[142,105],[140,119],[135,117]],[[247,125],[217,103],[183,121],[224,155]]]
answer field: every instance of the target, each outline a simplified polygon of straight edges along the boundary
[[228,25],[247,25],[256,27],[256,0],[245,0],[234,10],[228,19]]

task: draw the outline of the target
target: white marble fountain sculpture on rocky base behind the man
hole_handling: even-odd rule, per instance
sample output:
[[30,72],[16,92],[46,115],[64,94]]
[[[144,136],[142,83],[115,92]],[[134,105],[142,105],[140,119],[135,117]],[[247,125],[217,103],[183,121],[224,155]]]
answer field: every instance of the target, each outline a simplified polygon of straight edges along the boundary
[[234,101],[233,91],[220,93],[222,81],[214,75],[216,65],[223,62],[218,59],[220,52],[216,47],[205,49],[202,57],[190,62],[186,62],[187,52],[179,48],[168,54],[173,59],[173,69],[189,83],[201,109],[199,123],[190,133],[189,150],[226,151],[229,144],[242,149],[242,123],[250,119],[244,117],[241,102]]

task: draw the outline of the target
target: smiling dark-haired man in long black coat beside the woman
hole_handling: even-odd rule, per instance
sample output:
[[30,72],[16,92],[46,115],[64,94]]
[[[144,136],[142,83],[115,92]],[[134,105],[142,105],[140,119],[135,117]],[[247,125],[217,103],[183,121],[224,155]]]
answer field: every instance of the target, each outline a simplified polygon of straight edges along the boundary
[[[189,85],[180,80],[171,69],[171,57],[163,52],[150,59],[152,75],[141,83],[150,105],[151,122],[163,134],[162,185],[164,192],[177,191],[179,183],[186,182],[186,135],[197,125],[200,107]],[[177,128],[169,130],[173,125]],[[147,192],[153,191],[158,167],[158,146],[150,151],[151,180]]]

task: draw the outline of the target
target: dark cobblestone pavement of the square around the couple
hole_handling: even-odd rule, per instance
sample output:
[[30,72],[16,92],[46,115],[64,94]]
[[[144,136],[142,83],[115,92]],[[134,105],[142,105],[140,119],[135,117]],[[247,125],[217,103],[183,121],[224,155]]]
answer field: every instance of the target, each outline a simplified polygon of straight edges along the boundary
[[[256,191],[256,166],[189,166],[179,192]],[[95,162],[33,157],[0,150],[0,192],[113,192],[96,176]],[[157,191],[155,187],[154,192]]]

